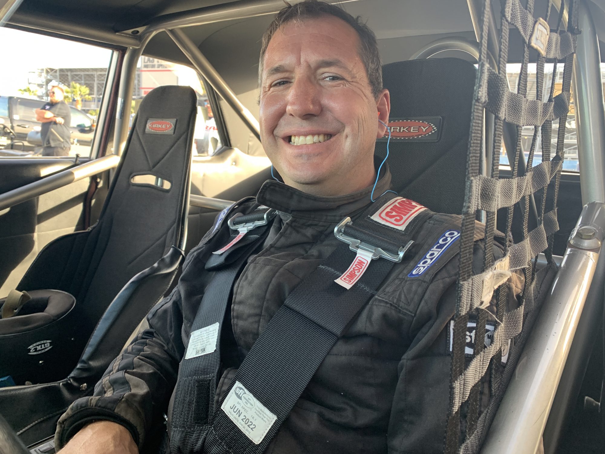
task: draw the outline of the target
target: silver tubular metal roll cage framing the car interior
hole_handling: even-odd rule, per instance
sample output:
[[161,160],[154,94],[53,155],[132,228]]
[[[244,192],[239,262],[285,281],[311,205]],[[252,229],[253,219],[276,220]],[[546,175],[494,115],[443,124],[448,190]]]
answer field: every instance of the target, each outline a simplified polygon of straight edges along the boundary
[[[282,0],[240,0],[229,4],[172,13],[155,18],[142,27],[119,33],[74,27],[73,24],[49,21],[46,18],[36,18],[22,13],[15,13],[11,18],[11,13],[15,12],[21,1],[0,0],[0,25],[5,21],[10,21],[11,24],[20,27],[38,28],[80,39],[126,47],[116,110],[117,122],[114,135],[116,154],[121,153],[128,132],[128,116],[124,114],[124,111],[132,93],[137,61],[146,44],[159,31],[168,33],[190,59],[192,65],[227,104],[234,108],[250,132],[260,138],[255,117],[241,104],[220,74],[180,29],[193,25],[274,14],[283,7]],[[356,0],[345,0],[345,2],[348,1]],[[467,0],[477,39],[480,33],[481,1]],[[335,0],[330,0],[330,2],[335,2]],[[560,10],[561,0],[552,0],[552,4]],[[559,407],[564,408],[564,404],[555,401],[555,393],[557,393],[561,377],[563,380],[568,380],[566,374],[573,375],[575,372],[574,370],[564,370],[570,350],[574,349],[578,343],[587,345],[586,336],[580,336],[574,346],[572,346],[572,340],[574,340],[578,323],[587,323],[587,318],[594,323],[599,321],[603,304],[603,286],[590,286],[590,283],[594,278],[598,283],[605,280],[605,258],[600,257],[601,245],[605,240],[605,159],[602,153],[605,150],[605,107],[601,85],[598,36],[587,7],[587,0],[580,0],[578,4],[580,5],[578,25],[581,34],[577,39],[572,84],[575,93],[578,160],[582,169],[580,185],[582,202],[585,206],[578,219],[576,229],[572,232],[554,285],[543,304],[540,317],[535,323],[528,344],[523,351],[520,360],[523,367],[518,368],[506,390],[494,423],[491,424],[483,444],[483,453],[535,452],[541,444],[543,433],[552,434],[561,429],[562,417],[555,418],[555,423],[552,424],[549,421],[549,426],[552,427],[547,426],[546,423],[553,405],[559,411],[561,410]],[[566,8],[566,6],[564,7]],[[564,11],[564,17],[566,16],[567,11]],[[492,26],[489,27],[488,50],[492,56],[497,56],[499,49],[495,31],[495,16],[492,15],[489,22]],[[420,49],[415,57],[428,58],[445,49],[457,49],[471,55],[476,54],[476,47],[472,43],[462,42],[457,38],[446,38]],[[489,116],[486,116],[486,134],[489,134],[489,121]],[[508,142],[507,135],[506,133],[504,135],[505,142]],[[486,140],[486,143],[491,143],[491,140]],[[509,148],[508,143],[506,148]],[[486,159],[489,159],[491,153],[485,153],[485,156]],[[523,157],[523,154],[521,156]],[[8,191],[0,195],[0,209],[39,196],[76,179],[93,176],[102,170],[113,168],[117,162],[119,162],[118,156],[106,156],[77,168],[60,171],[22,188]],[[522,164],[520,168],[522,172],[525,170],[524,167]],[[229,206],[232,202],[192,195],[190,203],[194,206],[218,210]],[[590,241],[583,241],[578,236],[577,232],[583,227],[592,229],[594,232]],[[580,320],[583,313],[586,316]],[[564,400],[564,396],[561,396],[561,400]],[[603,401],[603,393],[601,401]],[[598,405],[600,406],[600,404]]]

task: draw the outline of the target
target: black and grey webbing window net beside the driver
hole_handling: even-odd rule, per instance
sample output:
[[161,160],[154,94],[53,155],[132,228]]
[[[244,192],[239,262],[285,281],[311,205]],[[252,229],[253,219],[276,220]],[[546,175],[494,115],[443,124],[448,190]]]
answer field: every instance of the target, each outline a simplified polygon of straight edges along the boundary
[[[490,0],[483,2],[480,58],[466,164],[465,206],[453,328],[450,415],[445,434],[445,452],[448,454],[479,451],[537,309],[557,270],[552,260],[552,245],[554,233],[558,230],[557,196],[564,159],[563,145],[577,36],[574,2],[565,5],[562,1],[557,15],[551,1],[545,11],[538,12],[534,11],[534,0],[527,0],[526,4],[522,4],[520,0],[503,0],[500,29],[495,30],[499,36],[499,56],[495,56],[497,67],[491,66],[488,59],[491,6]],[[551,13],[557,16],[551,18]],[[549,21],[555,24],[554,28],[551,29]],[[517,93],[509,88],[506,76],[511,27],[517,28],[523,40],[523,61]],[[538,53],[536,80],[530,84],[535,87],[536,94],[531,96],[535,99],[529,99],[528,96],[528,65],[532,49]],[[557,65],[561,64],[564,65],[564,71],[561,93],[554,96],[555,77],[552,77],[550,96],[544,101],[542,93],[546,62],[554,64],[554,73]],[[488,169],[488,175],[482,175],[480,163],[483,116],[486,111],[495,116],[494,143],[491,147],[491,169]],[[552,156],[552,122],[557,119],[557,147]],[[516,129],[515,150],[514,153],[509,153],[512,158],[509,159],[510,178],[502,178],[499,174],[499,151],[505,123],[514,125],[512,130]],[[534,134],[525,171],[520,171],[524,159],[522,128],[528,126],[534,127]],[[542,162],[534,166],[539,131]],[[516,210],[515,205],[518,207]],[[483,266],[482,272],[477,274],[473,273],[474,235],[477,214],[482,211],[485,212]],[[537,219],[532,219],[530,223],[531,212],[535,213]],[[503,257],[495,260],[497,215],[500,217],[500,226],[505,227],[506,240]],[[512,239],[513,228],[522,232],[517,242]],[[537,256],[541,252],[546,255],[548,265],[538,270]],[[518,297],[520,304],[514,309],[510,309],[507,304],[509,295],[506,281],[511,273],[521,274],[525,278],[525,287]],[[475,339],[482,340],[486,335],[488,315],[496,320],[494,331],[489,333],[491,343],[486,346],[487,342],[475,342],[472,357],[469,358],[468,352],[465,352],[469,318],[476,320]],[[503,352],[506,364],[503,363]],[[486,396],[489,396],[487,401]]]

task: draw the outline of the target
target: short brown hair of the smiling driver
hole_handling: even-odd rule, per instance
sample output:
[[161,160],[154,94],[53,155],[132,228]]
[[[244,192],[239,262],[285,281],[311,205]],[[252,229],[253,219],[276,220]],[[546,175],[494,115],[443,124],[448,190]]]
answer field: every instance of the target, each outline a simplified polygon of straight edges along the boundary
[[374,32],[361,21],[361,17],[356,18],[345,12],[342,8],[318,0],[305,0],[295,5],[283,8],[273,22],[269,25],[263,35],[263,44],[261,47],[261,56],[258,64],[258,84],[260,86],[263,76],[263,59],[269,46],[269,41],[275,35],[275,32],[288,22],[302,21],[304,19],[319,18],[321,16],[335,16],[347,22],[353,27],[359,36],[359,58],[365,66],[365,72],[370,82],[370,88],[374,97],[382,90],[382,61],[378,51],[378,43]]

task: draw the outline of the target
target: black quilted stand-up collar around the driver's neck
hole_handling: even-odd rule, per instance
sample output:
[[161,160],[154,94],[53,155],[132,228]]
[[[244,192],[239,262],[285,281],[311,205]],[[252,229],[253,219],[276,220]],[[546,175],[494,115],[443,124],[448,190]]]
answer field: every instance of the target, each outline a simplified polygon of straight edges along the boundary
[[[379,163],[380,161],[378,165]],[[374,165],[378,167],[376,158],[374,158]],[[258,191],[257,202],[294,218],[332,223],[341,221],[347,215],[357,214],[371,203],[372,186],[345,196],[325,197],[313,196],[282,182],[267,180]],[[391,173],[385,163],[374,189],[374,198],[378,198],[388,189],[391,189]]]

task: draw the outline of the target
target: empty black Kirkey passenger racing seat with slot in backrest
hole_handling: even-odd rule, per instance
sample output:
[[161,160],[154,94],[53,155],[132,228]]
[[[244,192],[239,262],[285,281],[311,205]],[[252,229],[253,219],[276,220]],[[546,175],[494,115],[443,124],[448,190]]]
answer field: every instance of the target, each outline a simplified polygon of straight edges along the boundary
[[[42,383],[0,388],[0,409],[28,408],[0,410],[26,443],[50,436],[63,409],[92,391],[177,273],[196,102],[191,88],[177,86],[155,88],[143,99],[99,221],[47,245],[17,288],[32,296],[25,312],[0,319],[0,377]],[[35,314],[33,297],[44,299],[47,289],[73,295],[73,307],[60,316],[51,311],[56,317],[45,317],[42,326],[19,323],[19,314]],[[43,306],[38,303],[38,312],[50,300]],[[50,349],[28,354],[42,340]]]

